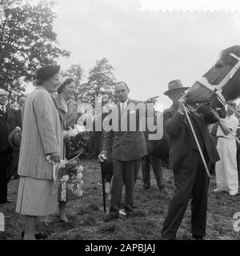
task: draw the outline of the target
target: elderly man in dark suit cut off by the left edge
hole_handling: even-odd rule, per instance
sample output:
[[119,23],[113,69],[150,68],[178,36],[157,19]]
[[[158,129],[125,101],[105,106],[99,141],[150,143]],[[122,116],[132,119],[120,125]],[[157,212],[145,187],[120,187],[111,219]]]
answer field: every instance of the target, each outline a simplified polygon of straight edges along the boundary
[[6,106],[7,96],[6,90],[0,89],[0,203],[8,202],[6,170],[12,155],[8,135],[16,127],[14,110]]

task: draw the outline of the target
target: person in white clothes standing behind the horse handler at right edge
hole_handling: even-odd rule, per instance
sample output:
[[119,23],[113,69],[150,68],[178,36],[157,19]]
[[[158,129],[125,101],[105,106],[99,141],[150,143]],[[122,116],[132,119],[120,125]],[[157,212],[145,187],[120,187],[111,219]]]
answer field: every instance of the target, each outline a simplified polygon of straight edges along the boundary
[[218,154],[220,161],[216,163],[217,188],[214,192],[226,191],[230,195],[238,194],[237,145],[235,141],[238,118],[234,111],[236,103],[230,102],[226,118],[219,118],[218,123]]

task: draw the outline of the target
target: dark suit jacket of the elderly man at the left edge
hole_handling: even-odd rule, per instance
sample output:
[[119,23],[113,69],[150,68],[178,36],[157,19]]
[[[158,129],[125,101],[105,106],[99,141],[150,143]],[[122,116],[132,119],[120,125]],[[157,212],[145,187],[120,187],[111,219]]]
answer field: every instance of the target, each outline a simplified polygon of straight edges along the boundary
[[6,151],[10,145],[8,135],[17,126],[16,115],[13,109],[6,106],[6,114],[0,110],[0,152]]

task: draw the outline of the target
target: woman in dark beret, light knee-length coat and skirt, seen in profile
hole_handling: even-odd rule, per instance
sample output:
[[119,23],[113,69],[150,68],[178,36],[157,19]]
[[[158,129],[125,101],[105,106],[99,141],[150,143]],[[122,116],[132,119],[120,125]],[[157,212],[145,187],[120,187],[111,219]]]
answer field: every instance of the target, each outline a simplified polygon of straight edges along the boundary
[[37,88],[26,99],[23,108],[22,142],[18,174],[16,211],[26,215],[22,238],[38,238],[35,226],[38,216],[58,210],[58,186],[53,180],[53,166],[46,160],[59,162],[63,155],[62,120],[51,93],[59,86],[60,66],[43,66],[37,72]]

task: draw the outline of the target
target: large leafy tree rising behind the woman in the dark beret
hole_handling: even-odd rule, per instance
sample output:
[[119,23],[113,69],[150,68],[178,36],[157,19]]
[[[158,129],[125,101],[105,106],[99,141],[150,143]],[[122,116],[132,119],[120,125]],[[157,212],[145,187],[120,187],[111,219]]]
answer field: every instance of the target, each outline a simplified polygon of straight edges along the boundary
[[0,87],[10,93],[10,103],[25,90],[40,66],[56,64],[70,52],[59,48],[53,31],[54,0],[37,4],[24,0],[3,0],[5,17],[0,22]]

